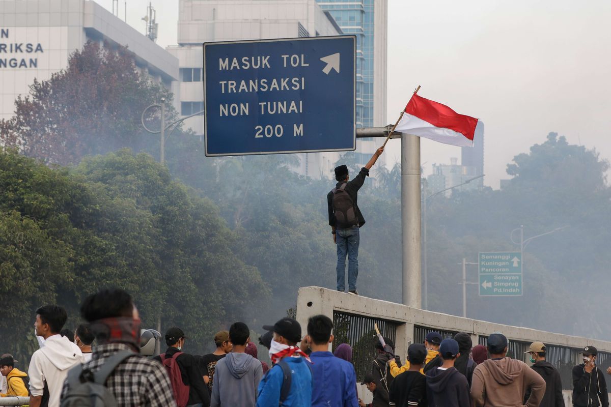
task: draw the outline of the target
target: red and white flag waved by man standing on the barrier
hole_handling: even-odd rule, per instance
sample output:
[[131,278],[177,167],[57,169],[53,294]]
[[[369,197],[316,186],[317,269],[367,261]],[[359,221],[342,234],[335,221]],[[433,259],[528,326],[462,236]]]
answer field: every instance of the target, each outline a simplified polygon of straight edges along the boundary
[[474,139],[481,140],[484,123],[414,93],[405,107],[395,131],[461,147],[472,147]]

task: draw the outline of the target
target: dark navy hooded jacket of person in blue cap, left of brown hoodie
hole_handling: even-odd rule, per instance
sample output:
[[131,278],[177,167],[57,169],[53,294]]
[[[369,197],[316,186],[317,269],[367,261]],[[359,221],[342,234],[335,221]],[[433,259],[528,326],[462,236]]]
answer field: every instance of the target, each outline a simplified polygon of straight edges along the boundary
[[470,407],[467,378],[455,367],[429,370],[426,373],[426,401],[429,407]]

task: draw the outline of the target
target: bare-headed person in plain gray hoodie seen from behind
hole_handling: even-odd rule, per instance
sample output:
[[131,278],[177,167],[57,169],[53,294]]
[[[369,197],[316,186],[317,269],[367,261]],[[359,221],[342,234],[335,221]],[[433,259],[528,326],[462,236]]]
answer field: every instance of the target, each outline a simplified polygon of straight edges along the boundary
[[229,328],[232,353],[219,360],[214,371],[210,407],[254,407],[257,387],[263,378],[261,362],[245,353],[250,330],[243,322]]

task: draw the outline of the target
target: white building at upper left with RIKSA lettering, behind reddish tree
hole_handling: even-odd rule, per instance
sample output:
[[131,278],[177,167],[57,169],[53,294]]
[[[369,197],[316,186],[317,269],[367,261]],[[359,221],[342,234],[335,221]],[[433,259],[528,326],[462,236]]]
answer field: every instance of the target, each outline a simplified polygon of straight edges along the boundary
[[29,85],[68,67],[87,41],[127,46],[136,67],[170,88],[178,59],[88,0],[0,0],[0,118],[14,115]]

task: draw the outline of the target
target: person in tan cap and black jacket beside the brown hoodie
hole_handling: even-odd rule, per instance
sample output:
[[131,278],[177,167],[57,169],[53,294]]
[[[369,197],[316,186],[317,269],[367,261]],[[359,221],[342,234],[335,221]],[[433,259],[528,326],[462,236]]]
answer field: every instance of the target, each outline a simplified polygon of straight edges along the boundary
[[[529,350],[525,351],[525,355],[530,355],[530,363],[532,370],[539,373],[545,380],[545,393],[541,399],[539,407],[565,407],[565,400],[562,397],[562,380],[560,373],[554,369],[550,362],[545,360],[545,345],[541,342],[533,342],[530,344]],[[530,389],[526,392],[524,403],[530,397]]]

